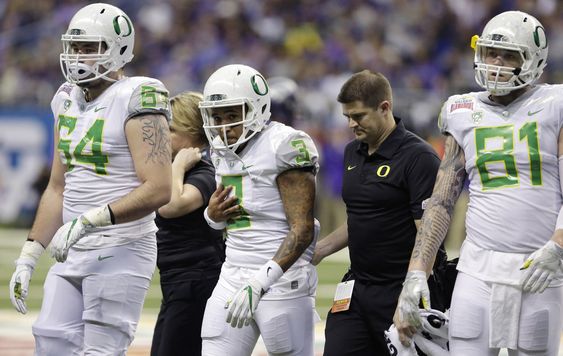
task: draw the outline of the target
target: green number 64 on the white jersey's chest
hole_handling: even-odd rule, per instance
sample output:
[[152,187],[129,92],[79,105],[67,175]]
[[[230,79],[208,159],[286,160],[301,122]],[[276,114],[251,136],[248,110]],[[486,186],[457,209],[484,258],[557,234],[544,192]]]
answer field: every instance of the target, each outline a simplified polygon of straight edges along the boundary
[[[65,158],[66,158],[66,165],[67,170],[70,171],[74,168],[73,158],[78,163],[85,163],[85,164],[92,164],[94,165],[94,170],[97,174],[105,175],[107,174],[106,171],[106,164],[108,163],[108,155],[102,153],[102,135],[104,132],[104,120],[97,119],[94,121],[92,126],[88,129],[84,137],[80,140],[80,142],[76,145],[76,148],[71,153],[70,152],[70,144],[71,140],[64,139],[61,137],[59,138],[59,145],[58,149],[63,151]],[[76,126],[76,117],[73,116],[59,116],[59,133],[61,129],[64,127],[66,128],[67,132],[66,135],[70,136],[72,131]],[[90,144],[91,146],[91,154],[84,154],[84,148]]]

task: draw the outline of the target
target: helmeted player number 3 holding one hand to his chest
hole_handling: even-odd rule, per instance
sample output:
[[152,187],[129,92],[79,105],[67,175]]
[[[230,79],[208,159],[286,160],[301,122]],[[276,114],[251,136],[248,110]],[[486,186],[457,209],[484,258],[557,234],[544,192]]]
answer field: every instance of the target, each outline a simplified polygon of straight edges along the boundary
[[200,103],[217,190],[206,219],[226,229],[226,260],[207,302],[203,355],[312,355],[317,275],[311,257],[318,154],[304,132],[270,119],[264,77],[234,64],[209,77]]

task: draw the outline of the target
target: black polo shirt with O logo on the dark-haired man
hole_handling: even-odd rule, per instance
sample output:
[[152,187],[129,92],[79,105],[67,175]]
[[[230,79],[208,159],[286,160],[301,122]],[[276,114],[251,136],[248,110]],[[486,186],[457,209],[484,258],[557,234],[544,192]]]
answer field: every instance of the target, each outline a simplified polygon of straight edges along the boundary
[[432,194],[440,159],[401,119],[376,152],[350,142],[344,153],[342,198],[348,213],[351,269],[359,280],[403,280],[416,237],[415,219]]

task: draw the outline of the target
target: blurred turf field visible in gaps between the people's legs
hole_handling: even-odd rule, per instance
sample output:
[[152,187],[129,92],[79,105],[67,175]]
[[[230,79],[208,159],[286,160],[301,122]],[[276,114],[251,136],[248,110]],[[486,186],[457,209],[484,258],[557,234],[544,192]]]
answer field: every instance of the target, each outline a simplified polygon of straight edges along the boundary
[[[0,355],[2,356],[29,356],[33,354],[33,337],[31,335],[31,324],[37,317],[43,296],[43,281],[53,263],[53,260],[45,253],[35,270],[31,280],[28,296],[27,315],[21,315],[14,311],[9,298],[8,284],[14,270],[14,260],[18,257],[23,241],[27,235],[27,230],[13,230],[0,228]],[[452,244],[450,244],[452,245]],[[453,245],[459,246],[459,241]],[[453,251],[453,252],[450,252]],[[455,257],[457,251],[449,250],[448,255]],[[315,326],[315,355],[321,355],[324,344],[324,320],[330,308],[336,284],[348,268],[349,260],[346,250],[343,250],[325,259],[317,271],[319,275],[319,285],[317,288],[317,311],[323,322]],[[129,352],[129,356],[148,355],[152,330],[158,308],[160,306],[160,288],[158,271],[155,272],[152,285],[145,300],[143,316],[141,317],[139,328],[135,340]],[[563,345],[563,334],[562,334]],[[253,356],[266,355],[263,344],[259,341]],[[507,355],[506,350],[502,350],[501,356]],[[559,356],[563,356],[563,346],[560,348]]]

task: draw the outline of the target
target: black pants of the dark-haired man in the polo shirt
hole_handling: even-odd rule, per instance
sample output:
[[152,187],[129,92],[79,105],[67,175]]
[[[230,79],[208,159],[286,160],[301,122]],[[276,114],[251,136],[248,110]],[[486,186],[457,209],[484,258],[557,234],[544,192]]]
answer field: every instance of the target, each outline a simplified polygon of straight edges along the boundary
[[389,355],[383,332],[393,323],[401,289],[402,281],[381,285],[356,280],[350,309],[328,312],[324,356]]

